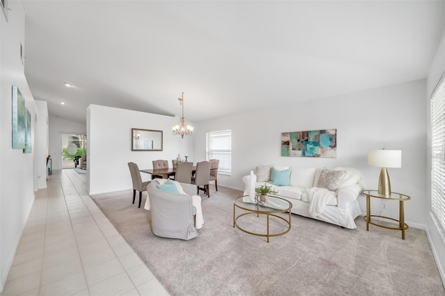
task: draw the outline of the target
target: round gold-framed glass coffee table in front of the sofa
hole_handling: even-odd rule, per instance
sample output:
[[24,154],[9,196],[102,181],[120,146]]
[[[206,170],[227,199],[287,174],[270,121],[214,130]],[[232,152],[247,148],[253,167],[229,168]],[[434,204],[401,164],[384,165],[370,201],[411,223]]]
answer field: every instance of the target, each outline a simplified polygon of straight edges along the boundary
[[[244,231],[245,233],[252,234],[252,236],[264,236],[267,238],[267,242],[269,242],[269,238],[273,236],[282,236],[289,231],[291,231],[291,208],[292,204],[288,200],[282,198],[282,197],[276,197],[276,196],[268,196],[268,200],[264,205],[261,204],[255,204],[250,202],[244,202],[243,197],[238,197],[234,200],[234,227],[237,227],[241,231]],[[241,213],[239,215],[236,215],[236,208],[240,208],[241,210],[247,211],[247,213]],[[279,213],[285,213],[289,212],[289,219],[286,220],[285,217],[282,217],[280,215],[277,215]],[[266,215],[266,221],[267,221],[267,229],[266,233],[256,233],[252,231],[248,231],[244,229],[243,227],[240,227],[236,222],[241,217],[245,217],[246,215]],[[277,218],[284,222],[286,222],[286,229],[280,233],[270,233],[269,231],[269,220],[270,218]]]

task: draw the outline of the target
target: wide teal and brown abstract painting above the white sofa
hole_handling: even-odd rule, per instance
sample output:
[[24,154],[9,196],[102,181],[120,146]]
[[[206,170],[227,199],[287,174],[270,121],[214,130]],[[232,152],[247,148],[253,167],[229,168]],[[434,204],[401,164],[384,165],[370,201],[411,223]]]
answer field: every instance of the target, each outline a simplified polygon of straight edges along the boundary
[[281,156],[337,157],[337,129],[281,134]]

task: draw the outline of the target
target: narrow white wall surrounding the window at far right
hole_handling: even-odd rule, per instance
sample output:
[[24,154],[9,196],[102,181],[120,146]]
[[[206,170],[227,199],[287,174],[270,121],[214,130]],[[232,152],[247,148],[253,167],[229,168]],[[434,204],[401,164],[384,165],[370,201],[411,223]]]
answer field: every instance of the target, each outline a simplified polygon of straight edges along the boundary
[[[437,48],[437,54],[432,61],[431,67],[430,67],[430,73],[428,74],[427,79],[427,98],[426,98],[426,104],[428,106],[427,115],[428,115],[428,124],[426,125],[426,129],[428,131],[428,147],[430,147],[431,142],[431,132],[430,132],[430,95],[432,94],[432,91],[434,90],[435,86],[437,85],[437,82],[439,82],[439,79],[442,75],[445,73],[445,30],[444,34],[442,35],[442,41],[439,44],[439,47]],[[438,227],[436,226],[435,222],[432,220],[432,217],[430,215],[430,208],[431,208],[431,151],[430,149],[427,149],[428,151],[428,165],[427,165],[427,194],[426,194],[426,225],[428,227],[428,238],[430,239],[430,245],[433,254],[435,254],[435,259],[437,263],[437,268],[439,268],[439,273],[442,277],[442,281],[445,283],[445,233],[440,233]]]

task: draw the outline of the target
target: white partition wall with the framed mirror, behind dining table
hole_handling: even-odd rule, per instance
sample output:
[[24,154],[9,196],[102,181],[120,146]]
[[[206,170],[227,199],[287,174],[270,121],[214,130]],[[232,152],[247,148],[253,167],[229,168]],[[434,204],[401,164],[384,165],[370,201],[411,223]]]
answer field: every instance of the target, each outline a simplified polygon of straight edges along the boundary
[[[90,195],[133,188],[128,164],[136,163],[140,170],[151,169],[152,161],[171,160],[178,154],[188,161],[193,158],[193,135],[172,134],[178,117],[143,113],[120,108],[90,105],[87,109],[88,188]],[[131,151],[131,129],[163,131],[163,151]],[[143,181],[149,174],[142,174]]]

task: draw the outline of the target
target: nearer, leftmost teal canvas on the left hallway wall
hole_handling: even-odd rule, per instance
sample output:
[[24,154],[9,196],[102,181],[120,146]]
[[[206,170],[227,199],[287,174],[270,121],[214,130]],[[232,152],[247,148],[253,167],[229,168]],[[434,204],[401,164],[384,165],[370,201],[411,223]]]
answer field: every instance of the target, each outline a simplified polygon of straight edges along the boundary
[[19,88],[13,85],[13,149],[25,148],[25,121],[25,99]]

